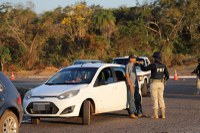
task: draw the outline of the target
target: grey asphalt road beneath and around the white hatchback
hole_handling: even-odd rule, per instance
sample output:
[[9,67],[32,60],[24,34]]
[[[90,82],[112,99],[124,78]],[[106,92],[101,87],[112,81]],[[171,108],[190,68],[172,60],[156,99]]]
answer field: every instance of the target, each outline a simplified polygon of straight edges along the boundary
[[[21,81],[19,81],[21,82]],[[37,86],[42,81],[29,81],[19,83],[17,86]],[[26,83],[26,84],[25,84]],[[154,120],[151,118],[139,118],[137,120],[128,117],[125,110],[96,115],[89,126],[81,125],[80,118],[45,118],[39,125],[31,124],[29,118],[24,118],[20,127],[20,133],[67,133],[67,132],[200,132],[200,96],[195,92],[195,79],[169,80],[165,89],[166,119]],[[116,103],[117,104],[117,103]],[[143,111],[151,115],[151,99],[143,98]]]

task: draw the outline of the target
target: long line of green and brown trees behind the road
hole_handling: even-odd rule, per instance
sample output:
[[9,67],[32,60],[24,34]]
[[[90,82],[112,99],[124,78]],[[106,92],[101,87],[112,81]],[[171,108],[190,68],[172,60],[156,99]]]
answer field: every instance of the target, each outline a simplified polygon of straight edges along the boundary
[[61,67],[76,59],[163,53],[168,65],[199,57],[200,1],[157,0],[104,9],[80,2],[37,14],[33,3],[0,5],[2,71]]

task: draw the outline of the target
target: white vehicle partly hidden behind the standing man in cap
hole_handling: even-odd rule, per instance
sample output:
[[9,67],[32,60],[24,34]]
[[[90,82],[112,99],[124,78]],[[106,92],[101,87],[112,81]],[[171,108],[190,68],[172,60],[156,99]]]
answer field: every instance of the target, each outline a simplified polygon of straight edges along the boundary
[[[148,66],[150,64],[150,61],[146,56],[138,56],[136,60],[139,62],[142,61],[144,66]],[[129,62],[129,57],[128,56],[117,57],[114,58],[112,62],[114,64],[126,65]],[[139,80],[140,93],[142,94],[142,96],[147,96],[147,92],[149,92],[151,71],[142,71],[141,68],[136,63],[136,72]]]

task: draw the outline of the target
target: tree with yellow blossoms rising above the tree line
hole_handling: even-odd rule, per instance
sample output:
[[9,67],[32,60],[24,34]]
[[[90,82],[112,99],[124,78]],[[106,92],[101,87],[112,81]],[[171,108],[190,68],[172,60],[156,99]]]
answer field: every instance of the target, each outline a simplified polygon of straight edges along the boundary
[[66,34],[73,42],[80,41],[88,32],[93,11],[86,6],[86,3],[66,7],[65,11],[66,16],[61,23],[66,30]]

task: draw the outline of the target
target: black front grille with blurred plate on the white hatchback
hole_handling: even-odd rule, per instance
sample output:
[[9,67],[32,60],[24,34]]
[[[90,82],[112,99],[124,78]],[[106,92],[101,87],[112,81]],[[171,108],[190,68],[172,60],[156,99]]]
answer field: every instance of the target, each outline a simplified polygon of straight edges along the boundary
[[59,111],[52,102],[31,102],[26,110],[29,114],[56,114]]

